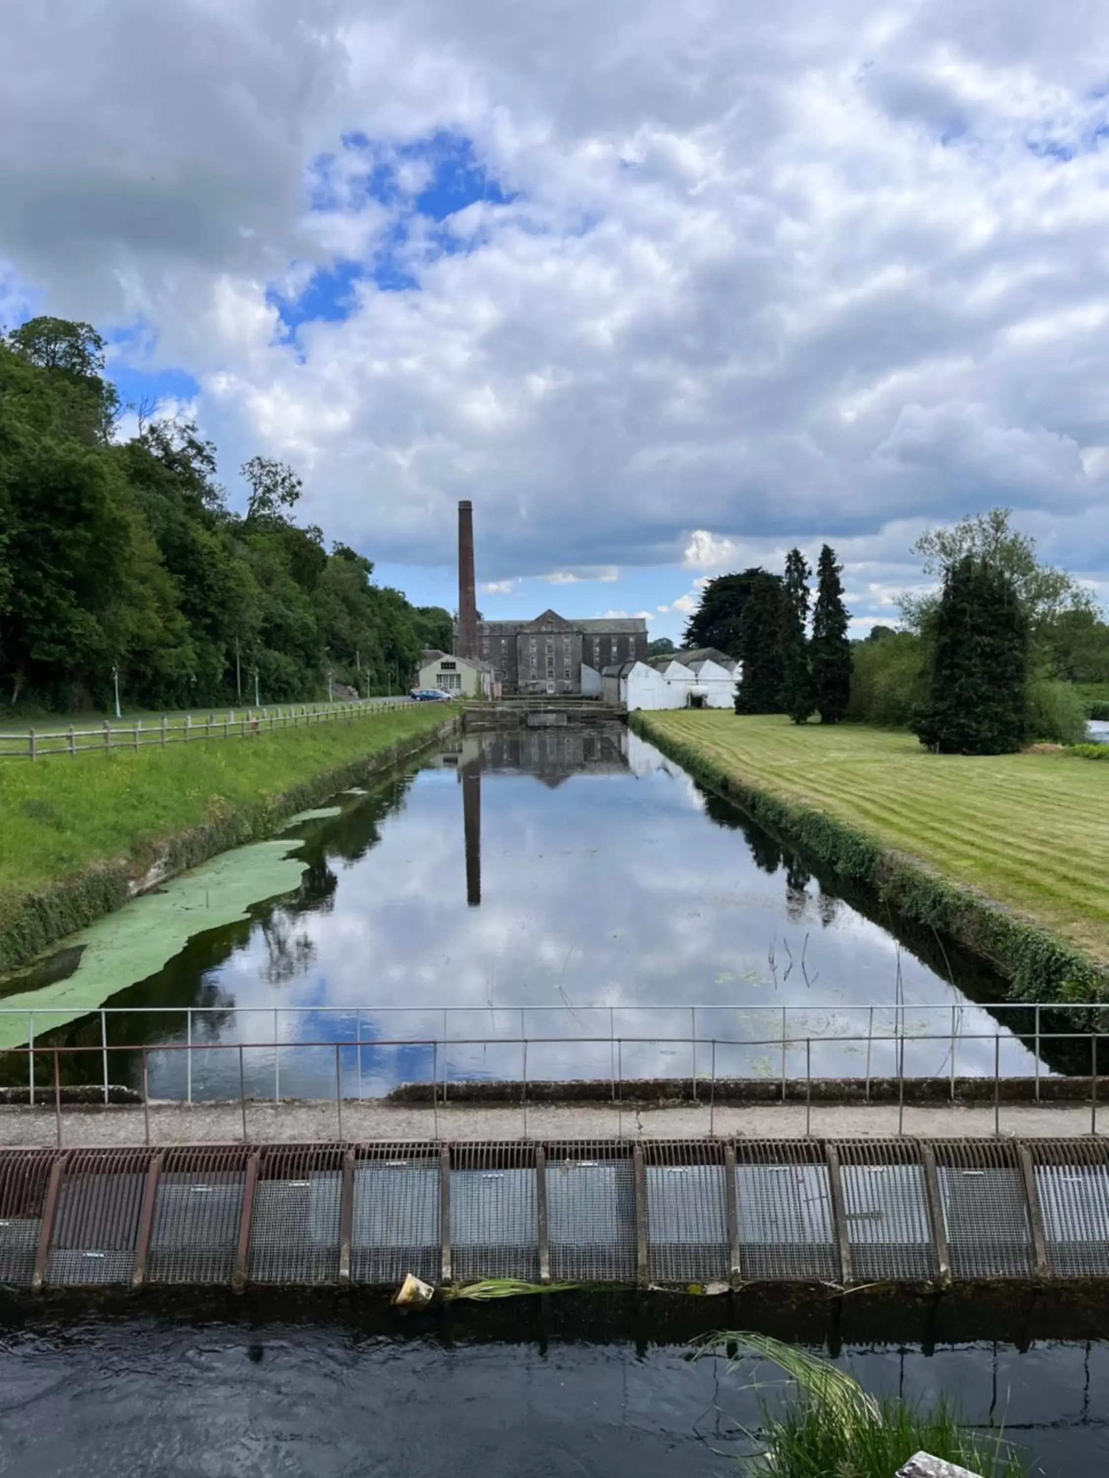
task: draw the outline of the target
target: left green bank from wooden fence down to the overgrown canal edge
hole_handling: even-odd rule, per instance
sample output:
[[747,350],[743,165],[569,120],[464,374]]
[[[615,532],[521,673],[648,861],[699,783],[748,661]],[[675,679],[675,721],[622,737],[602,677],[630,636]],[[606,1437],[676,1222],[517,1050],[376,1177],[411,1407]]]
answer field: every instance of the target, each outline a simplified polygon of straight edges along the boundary
[[226,743],[0,763],[0,971],[120,907],[151,866],[179,872],[266,837],[450,717],[427,704]]

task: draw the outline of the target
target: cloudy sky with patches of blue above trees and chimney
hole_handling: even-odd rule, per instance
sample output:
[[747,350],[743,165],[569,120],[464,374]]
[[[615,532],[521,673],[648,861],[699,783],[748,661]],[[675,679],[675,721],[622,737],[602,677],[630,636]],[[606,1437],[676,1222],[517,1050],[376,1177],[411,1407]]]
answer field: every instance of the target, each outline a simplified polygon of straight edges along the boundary
[[[260,452],[413,600],[859,633],[1014,510],[1109,597],[1096,0],[0,0],[0,324]],[[121,433],[133,429],[133,412]]]

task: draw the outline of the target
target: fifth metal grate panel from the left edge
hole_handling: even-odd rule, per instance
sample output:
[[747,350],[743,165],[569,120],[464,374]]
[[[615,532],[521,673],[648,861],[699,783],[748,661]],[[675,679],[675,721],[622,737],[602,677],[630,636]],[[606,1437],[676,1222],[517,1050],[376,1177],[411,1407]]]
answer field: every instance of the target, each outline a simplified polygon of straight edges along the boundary
[[355,1165],[350,1276],[401,1283],[441,1274],[439,1150],[433,1144],[374,1145]]

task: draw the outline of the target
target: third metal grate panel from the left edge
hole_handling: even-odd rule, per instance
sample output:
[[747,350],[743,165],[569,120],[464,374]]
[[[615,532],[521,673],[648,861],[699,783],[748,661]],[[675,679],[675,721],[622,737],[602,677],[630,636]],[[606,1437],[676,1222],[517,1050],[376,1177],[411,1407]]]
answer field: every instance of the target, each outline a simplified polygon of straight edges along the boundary
[[169,1150],[146,1262],[151,1283],[229,1283],[243,1216],[247,1150]]

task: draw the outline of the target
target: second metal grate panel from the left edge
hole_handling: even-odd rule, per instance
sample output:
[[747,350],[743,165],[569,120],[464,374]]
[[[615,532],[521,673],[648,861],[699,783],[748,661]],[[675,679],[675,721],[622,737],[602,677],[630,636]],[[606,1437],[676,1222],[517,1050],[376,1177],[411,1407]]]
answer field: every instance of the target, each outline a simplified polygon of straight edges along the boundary
[[135,1271],[148,1150],[71,1156],[46,1259],[49,1284],[127,1283]]

